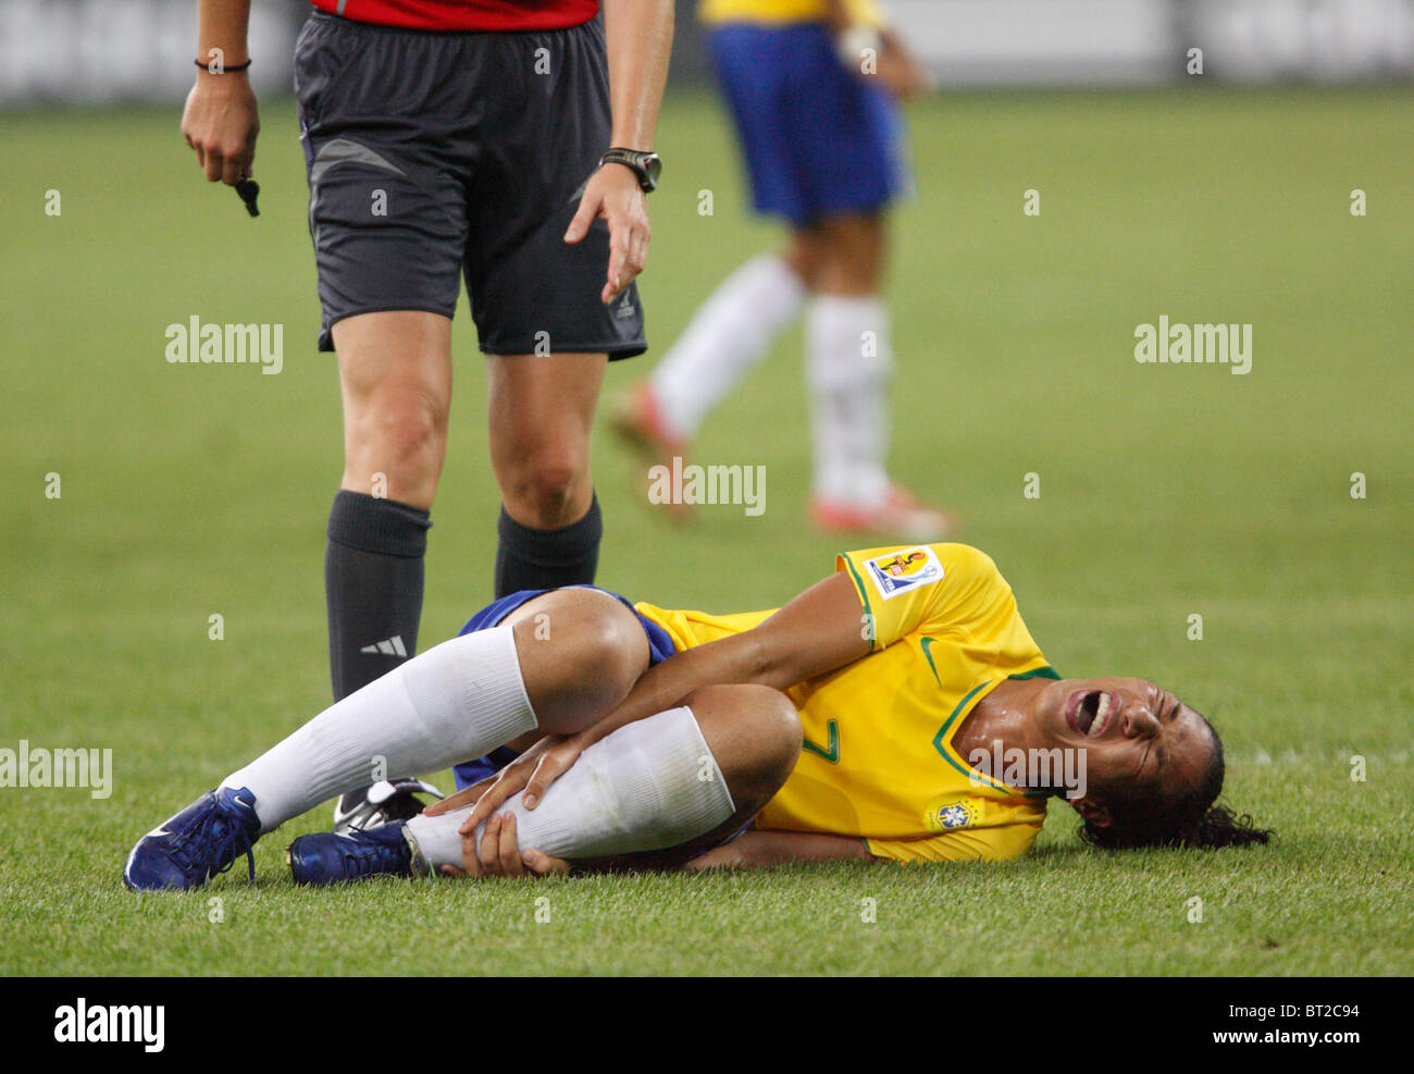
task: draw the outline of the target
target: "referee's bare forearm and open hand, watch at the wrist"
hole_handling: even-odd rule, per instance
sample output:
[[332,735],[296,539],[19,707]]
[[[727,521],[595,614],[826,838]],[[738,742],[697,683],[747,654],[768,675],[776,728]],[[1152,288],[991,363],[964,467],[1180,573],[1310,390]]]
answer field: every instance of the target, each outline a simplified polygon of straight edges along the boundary
[[[604,31],[617,149],[650,151],[673,45],[672,0],[604,0]],[[580,242],[597,218],[609,225],[609,263],[600,299],[608,306],[648,266],[646,194],[622,164],[605,164],[590,178],[564,241]]]

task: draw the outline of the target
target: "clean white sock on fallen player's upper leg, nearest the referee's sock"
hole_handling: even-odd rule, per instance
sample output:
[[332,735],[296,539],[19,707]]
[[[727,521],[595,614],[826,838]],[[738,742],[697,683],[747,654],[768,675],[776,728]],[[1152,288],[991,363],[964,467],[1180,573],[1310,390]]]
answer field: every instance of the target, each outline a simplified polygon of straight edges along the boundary
[[479,757],[537,726],[510,627],[434,645],[321,712],[222,787],[247,787],[269,832],[375,780]]

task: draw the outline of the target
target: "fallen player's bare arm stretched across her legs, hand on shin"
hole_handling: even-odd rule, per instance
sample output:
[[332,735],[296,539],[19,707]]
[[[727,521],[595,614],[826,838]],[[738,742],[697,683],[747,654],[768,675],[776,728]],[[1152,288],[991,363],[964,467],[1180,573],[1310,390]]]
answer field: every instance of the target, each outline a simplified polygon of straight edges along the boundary
[[758,685],[786,689],[843,668],[870,652],[870,631],[858,594],[844,573],[817,582],[759,627],[690,648],[649,668],[612,712],[567,736],[546,736],[506,766],[495,781],[482,781],[437,802],[438,815],[471,802],[477,808],[462,829],[471,833],[512,795],[525,790],[526,808],[544,798],[560,775],[590,746],[612,732],[680,705],[703,686]]

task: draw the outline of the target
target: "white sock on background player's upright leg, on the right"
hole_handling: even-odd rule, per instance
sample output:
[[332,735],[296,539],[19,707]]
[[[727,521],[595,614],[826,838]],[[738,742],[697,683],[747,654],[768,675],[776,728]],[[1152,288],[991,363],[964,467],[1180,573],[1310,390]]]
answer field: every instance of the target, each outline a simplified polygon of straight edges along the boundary
[[888,492],[888,310],[874,296],[817,296],[806,311],[814,494],[861,508]]

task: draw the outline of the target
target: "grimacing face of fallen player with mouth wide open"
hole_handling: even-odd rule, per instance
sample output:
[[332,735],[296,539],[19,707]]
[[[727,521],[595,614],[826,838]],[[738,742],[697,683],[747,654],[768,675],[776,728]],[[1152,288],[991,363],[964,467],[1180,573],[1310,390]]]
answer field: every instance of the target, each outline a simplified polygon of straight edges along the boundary
[[1087,790],[1072,804],[1100,824],[1106,799],[1188,795],[1213,758],[1208,722],[1145,679],[1051,682],[1034,719],[1048,746],[1085,750]]

